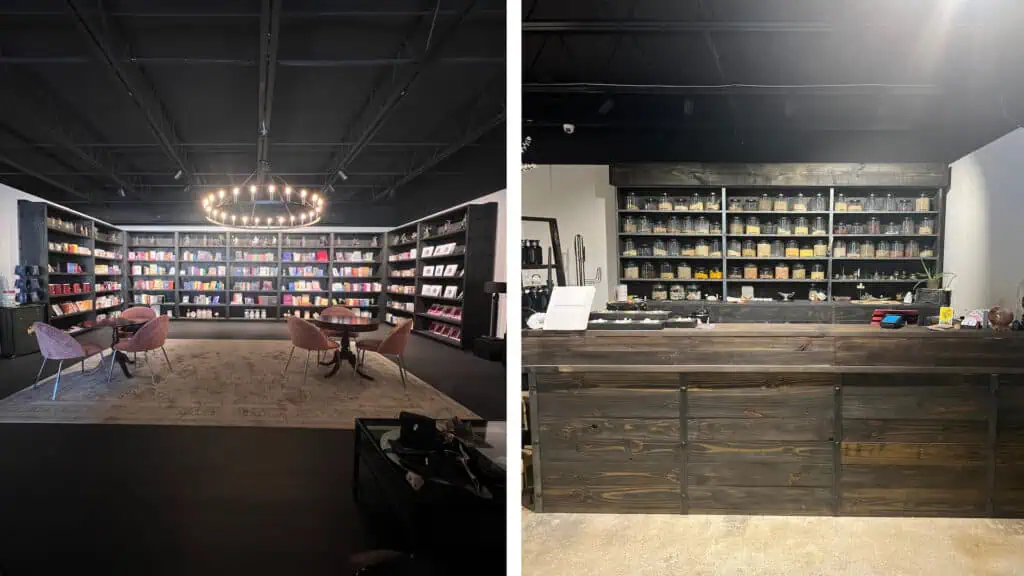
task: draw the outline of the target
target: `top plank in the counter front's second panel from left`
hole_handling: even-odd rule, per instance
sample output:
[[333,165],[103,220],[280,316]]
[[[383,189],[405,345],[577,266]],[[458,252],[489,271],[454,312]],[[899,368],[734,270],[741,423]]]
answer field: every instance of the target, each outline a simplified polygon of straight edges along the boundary
[[833,389],[826,386],[778,388],[698,388],[686,390],[692,418],[831,419]]

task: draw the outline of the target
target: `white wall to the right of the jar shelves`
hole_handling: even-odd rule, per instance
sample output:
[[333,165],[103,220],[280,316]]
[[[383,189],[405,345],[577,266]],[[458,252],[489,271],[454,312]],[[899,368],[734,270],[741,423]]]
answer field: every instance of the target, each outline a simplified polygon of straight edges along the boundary
[[1024,128],[951,166],[943,269],[956,274],[956,314],[993,305],[1017,310],[1024,280]]

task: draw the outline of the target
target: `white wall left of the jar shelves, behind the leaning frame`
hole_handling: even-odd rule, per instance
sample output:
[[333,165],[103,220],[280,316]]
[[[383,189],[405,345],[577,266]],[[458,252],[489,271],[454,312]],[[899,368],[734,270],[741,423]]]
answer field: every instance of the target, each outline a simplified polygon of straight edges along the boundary
[[[586,279],[593,280],[597,270],[601,271],[593,307],[603,310],[614,297],[618,282],[615,189],[608,183],[608,166],[541,165],[524,172],[522,215],[558,219],[565,280],[570,285],[580,284],[573,238],[583,236],[587,247]],[[522,238],[540,240],[547,261],[551,238],[546,223],[523,222]]]

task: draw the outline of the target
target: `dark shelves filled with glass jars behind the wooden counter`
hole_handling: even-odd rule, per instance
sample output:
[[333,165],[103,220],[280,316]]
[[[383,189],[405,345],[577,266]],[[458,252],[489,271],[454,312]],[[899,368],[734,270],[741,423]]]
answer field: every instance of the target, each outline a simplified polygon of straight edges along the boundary
[[[942,195],[920,187],[620,188],[618,281],[629,295],[652,299],[686,299],[693,282],[701,298],[845,300],[867,295],[852,286],[864,279],[899,288],[868,290],[895,300],[923,262],[941,270]],[[687,198],[703,210],[665,209]]]

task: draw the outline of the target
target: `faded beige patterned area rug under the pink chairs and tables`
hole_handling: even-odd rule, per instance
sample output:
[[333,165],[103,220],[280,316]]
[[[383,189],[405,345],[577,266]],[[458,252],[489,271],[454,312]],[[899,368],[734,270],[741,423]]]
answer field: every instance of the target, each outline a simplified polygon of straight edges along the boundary
[[[57,399],[50,401],[53,378],[0,401],[0,422],[73,422],[131,424],[203,424],[352,428],[355,418],[395,418],[402,410],[433,417],[476,417],[414,374],[401,385],[398,367],[368,353],[364,372],[352,375],[345,364],[332,378],[328,367],[309,361],[296,348],[282,375],[291,344],[285,340],[168,340],[170,372],[163,355],[150,353],[147,364],[131,367],[125,378],[119,366],[108,385],[110,354],[101,370],[89,374],[98,359],[65,368]],[[150,370],[156,370],[154,385]]]

